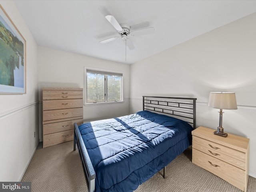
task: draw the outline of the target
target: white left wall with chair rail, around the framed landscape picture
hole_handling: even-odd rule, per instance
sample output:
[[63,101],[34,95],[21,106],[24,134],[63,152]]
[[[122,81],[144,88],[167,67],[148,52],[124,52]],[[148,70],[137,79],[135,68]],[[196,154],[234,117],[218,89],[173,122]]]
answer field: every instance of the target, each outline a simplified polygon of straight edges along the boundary
[[37,44],[15,4],[0,4],[26,39],[26,94],[0,94],[0,181],[20,181],[38,144]]

